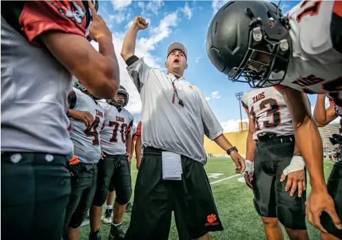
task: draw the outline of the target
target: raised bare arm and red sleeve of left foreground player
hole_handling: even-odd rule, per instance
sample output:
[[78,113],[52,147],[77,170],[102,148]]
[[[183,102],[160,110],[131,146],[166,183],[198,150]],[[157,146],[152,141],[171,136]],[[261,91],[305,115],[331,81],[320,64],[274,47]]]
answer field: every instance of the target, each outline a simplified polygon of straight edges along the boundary
[[[100,51],[97,52],[85,38],[85,21],[77,23],[72,17],[66,17],[54,4],[54,1],[25,1],[19,16],[23,34],[28,41],[45,45],[94,96],[114,98],[120,78],[107,25],[97,16],[94,6],[89,4],[93,18],[89,34],[92,33],[99,44]],[[75,1],[75,4],[84,9],[81,1]],[[68,9],[71,7],[64,8],[73,12]]]

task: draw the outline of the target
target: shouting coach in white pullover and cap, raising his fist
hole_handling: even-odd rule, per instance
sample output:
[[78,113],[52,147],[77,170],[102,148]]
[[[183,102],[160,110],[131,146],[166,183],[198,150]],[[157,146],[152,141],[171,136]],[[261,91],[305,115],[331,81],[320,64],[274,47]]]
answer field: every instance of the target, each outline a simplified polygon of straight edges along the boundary
[[244,160],[224,137],[204,96],[184,78],[187,51],[182,43],[167,49],[167,73],[134,55],[138,30],[148,27],[136,17],[121,56],[142,100],[144,152],[136,179],[131,224],[125,239],[167,240],[174,211],[180,239],[209,239],[223,230],[204,164],[204,134],[231,155],[237,173]]

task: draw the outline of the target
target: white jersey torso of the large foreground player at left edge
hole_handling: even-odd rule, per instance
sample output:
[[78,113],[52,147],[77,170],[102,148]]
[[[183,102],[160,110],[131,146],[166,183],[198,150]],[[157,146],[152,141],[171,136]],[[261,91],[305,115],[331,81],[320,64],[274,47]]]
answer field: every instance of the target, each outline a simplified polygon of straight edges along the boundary
[[[48,24],[43,25],[36,23],[41,28],[30,32],[45,31]],[[72,74],[46,47],[31,44],[1,15],[1,151],[72,157],[67,131],[71,90]]]

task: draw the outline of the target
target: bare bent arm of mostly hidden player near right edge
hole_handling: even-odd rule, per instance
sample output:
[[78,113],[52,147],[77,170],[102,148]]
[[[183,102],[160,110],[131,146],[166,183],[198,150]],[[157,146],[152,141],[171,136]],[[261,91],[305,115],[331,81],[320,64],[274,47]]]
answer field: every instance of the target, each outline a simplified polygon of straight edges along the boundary
[[324,127],[338,117],[334,102],[331,100],[329,102],[330,106],[325,109],[325,94],[317,94],[316,105],[314,106],[314,120],[316,120],[318,127]]

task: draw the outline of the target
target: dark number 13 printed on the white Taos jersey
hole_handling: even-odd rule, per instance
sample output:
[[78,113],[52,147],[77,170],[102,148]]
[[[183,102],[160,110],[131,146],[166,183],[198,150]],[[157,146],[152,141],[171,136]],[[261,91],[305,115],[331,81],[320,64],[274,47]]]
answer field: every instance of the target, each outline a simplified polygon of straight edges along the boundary
[[[275,100],[274,98],[268,98],[260,102],[259,109],[263,110],[266,108],[266,115],[272,116],[272,122],[270,120],[267,120],[263,121],[261,124],[264,124],[264,128],[266,129],[277,127],[281,122],[279,111],[280,107],[277,100]],[[257,116],[255,115],[254,106],[250,109],[250,114],[255,119],[255,131],[259,131],[261,126],[259,124]]]

